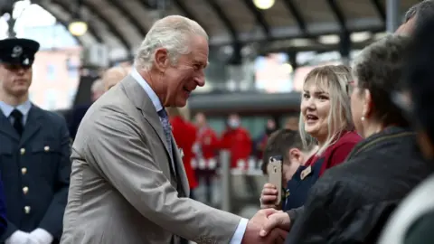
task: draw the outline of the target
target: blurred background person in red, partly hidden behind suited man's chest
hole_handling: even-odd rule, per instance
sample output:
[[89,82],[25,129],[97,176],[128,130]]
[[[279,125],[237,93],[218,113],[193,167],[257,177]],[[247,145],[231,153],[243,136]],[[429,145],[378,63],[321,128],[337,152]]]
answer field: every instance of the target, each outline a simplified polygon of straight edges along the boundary
[[175,143],[179,146],[181,152],[185,174],[187,174],[188,185],[190,186],[190,198],[194,199],[193,190],[197,187],[197,181],[192,168],[192,160],[197,129],[189,122],[190,111],[187,106],[184,108],[169,107],[166,110],[172,125]]

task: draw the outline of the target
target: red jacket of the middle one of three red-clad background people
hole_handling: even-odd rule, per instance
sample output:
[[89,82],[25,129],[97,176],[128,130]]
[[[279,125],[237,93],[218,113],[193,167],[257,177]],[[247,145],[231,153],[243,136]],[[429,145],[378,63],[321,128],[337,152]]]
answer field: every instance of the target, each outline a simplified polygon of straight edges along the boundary
[[196,157],[202,157],[205,161],[215,159],[219,150],[219,138],[211,127],[198,129],[196,143],[199,145],[200,152]]

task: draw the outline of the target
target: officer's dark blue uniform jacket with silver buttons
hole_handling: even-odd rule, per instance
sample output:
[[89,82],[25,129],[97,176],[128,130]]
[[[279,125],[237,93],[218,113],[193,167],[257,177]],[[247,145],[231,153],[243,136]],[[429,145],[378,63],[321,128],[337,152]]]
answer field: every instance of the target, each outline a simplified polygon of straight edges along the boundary
[[0,172],[5,184],[8,228],[42,228],[59,241],[71,174],[70,137],[64,119],[34,105],[23,136],[0,112]]

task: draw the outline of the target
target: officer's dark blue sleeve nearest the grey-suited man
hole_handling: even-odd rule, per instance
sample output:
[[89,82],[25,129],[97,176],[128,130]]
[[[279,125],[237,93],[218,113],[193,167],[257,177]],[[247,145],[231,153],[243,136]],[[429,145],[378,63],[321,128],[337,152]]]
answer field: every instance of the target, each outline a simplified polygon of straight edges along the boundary
[[60,121],[61,159],[57,164],[56,184],[52,203],[46,211],[39,225],[43,230],[52,234],[54,239],[60,239],[62,231],[63,213],[68,199],[71,174],[71,144],[68,127],[63,118]]

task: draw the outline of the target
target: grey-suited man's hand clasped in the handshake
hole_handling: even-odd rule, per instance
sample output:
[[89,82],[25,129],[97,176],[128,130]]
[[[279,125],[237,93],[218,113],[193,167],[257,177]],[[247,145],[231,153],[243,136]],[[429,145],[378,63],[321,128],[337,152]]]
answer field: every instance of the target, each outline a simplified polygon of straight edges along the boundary
[[262,230],[263,224],[268,221],[267,217],[277,212],[278,211],[274,209],[258,211],[248,222],[241,243],[284,243],[288,232],[278,228],[270,230],[266,237],[259,236],[259,231]]

